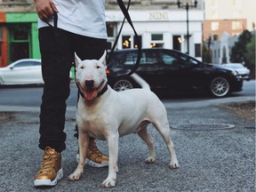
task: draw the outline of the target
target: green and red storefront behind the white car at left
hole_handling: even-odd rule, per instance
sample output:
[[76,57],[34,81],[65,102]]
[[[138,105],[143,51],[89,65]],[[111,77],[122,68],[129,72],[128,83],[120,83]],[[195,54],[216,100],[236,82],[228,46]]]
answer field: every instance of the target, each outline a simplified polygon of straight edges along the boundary
[[24,58],[40,59],[36,12],[1,12],[0,15],[0,67]]

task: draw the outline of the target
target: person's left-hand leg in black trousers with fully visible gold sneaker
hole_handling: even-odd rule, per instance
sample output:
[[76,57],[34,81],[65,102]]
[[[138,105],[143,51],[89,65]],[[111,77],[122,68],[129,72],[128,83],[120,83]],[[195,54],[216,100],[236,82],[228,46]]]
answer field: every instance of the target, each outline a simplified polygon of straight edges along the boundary
[[43,163],[35,186],[54,186],[63,176],[60,152],[66,148],[64,132],[66,100],[69,95],[69,71],[73,60],[70,34],[52,28],[39,29],[44,93],[40,113],[39,148]]

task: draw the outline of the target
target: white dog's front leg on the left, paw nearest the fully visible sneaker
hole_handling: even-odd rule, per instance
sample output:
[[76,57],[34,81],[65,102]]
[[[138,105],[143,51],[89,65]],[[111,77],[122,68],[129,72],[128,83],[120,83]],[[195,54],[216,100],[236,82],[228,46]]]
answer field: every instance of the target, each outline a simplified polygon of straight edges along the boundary
[[89,136],[86,133],[79,132],[78,145],[79,145],[79,162],[77,164],[76,171],[68,176],[69,180],[79,180],[83,175],[84,166],[85,166],[85,156],[87,156],[87,150],[89,147]]

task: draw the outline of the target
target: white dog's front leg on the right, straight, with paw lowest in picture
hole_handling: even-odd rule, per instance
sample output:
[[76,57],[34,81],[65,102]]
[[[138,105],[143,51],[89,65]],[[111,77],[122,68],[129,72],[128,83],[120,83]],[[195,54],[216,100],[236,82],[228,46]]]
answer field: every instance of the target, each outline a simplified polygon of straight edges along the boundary
[[108,151],[109,151],[109,163],[108,163],[108,178],[102,182],[101,188],[113,188],[116,186],[116,172],[117,158],[118,158],[118,139],[119,134],[108,136]]

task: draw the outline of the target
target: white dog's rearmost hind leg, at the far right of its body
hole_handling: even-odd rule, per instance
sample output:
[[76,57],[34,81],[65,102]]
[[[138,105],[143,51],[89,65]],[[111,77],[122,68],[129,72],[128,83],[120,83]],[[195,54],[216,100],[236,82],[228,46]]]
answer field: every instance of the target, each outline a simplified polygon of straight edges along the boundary
[[171,169],[177,169],[179,168],[179,163],[178,163],[178,159],[175,153],[175,149],[170,137],[170,127],[169,127],[169,123],[168,120],[166,119],[164,121],[165,123],[162,124],[160,122],[155,122],[154,126],[156,127],[156,130],[158,132],[160,132],[160,134],[162,135],[164,142],[166,143],[166,146],[169,150],[170,156],[171,156]]

